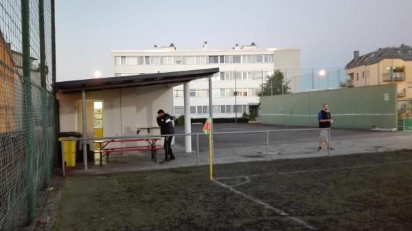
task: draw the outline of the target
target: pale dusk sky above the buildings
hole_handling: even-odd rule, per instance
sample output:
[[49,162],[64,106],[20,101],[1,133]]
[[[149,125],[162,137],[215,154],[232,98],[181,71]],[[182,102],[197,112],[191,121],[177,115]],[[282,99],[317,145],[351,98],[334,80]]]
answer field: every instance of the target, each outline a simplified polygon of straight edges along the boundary
[[56,0],[58,81],[114,76],[111,50],[297,47],[301,68],[412,45],[411,0]]

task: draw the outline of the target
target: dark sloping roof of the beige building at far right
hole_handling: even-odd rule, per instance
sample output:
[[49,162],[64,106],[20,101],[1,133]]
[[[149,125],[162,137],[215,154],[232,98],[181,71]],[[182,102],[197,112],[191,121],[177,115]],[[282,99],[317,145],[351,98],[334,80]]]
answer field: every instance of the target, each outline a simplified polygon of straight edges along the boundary
[[347,63],[345,69],[351,69],[363,65],[372,65],[379,63],[384,59],[402,59],[403,61],[412,61],[412,47],[401,45],[400,47],[379,48],[374,52],[364,54],[363,56],[354,57]]

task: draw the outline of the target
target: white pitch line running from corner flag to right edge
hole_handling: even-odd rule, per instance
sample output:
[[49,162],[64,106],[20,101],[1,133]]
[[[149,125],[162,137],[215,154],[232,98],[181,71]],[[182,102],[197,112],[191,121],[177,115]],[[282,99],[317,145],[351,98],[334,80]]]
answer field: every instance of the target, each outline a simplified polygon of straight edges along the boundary
[[385,164],[364,164],[358,166],[347,166],[341,168],[319,168],[319,169],[312,169],[312,170],[296,170],[290,172],[279,172],[279,173],[263,173],[263,174],[255,174],[255,175],[241,175],[236,177],[218,177],[215,179],[236,179],[236,178],[246,178],[246,177],[261,177],[266,175],[288,175],[288,174],[299,174],[299,173],[314,173],[314,172],[322,172],[322,171],[329,171],[329,170],[345,170],[345,169],[353,169],[353,168],[367,168],[367,167],[374,167],[374,166],[385,166],[391,164],[404,164],[404,163],[411,163],[412,160],[405,160],[402,162],[388,162]]

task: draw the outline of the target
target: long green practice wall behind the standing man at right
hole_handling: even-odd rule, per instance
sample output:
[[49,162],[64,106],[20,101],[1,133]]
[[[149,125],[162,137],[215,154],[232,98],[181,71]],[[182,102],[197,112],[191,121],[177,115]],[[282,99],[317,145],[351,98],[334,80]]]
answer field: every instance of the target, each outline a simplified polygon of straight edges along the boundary
[[333,127],[396,128],[396,95],[390,84],[262,96],[262,124],[318,126],[317,114],[328,103]]

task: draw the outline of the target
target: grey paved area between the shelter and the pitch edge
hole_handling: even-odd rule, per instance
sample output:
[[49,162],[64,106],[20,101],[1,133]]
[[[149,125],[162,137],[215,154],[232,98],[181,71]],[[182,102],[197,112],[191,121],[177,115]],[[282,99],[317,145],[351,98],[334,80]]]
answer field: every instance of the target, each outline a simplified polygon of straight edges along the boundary
[[[194,124],[192,133],[201,132],[202,125]],[[270,126],[262,124],[215,124],[215,131],[266,131],[276,129],[303,129],[298,127]],[[176,127],[176,133],[184,128]],[[305,158],[354,153],[376,153],[412,149],[412,133],[402,131],[379,132],[354,129],[333,129],[331,145],[335,149],[328,153],[325,148],[317,151],[319,131],[271,133],[268,155],[266,133],[225,134],[214,137],[214,163],[265,161],[266,159]],[[106,174],[135,170],[155,170],[209,164],[207,135],[199,136],[199,152],[196,152],[196,137],[192,138],[192,153],[185,153],[184,138],[176,137],[172,146],[176,160],[167,164],[152,162],[150,153],[132,153],[111,158],[110,164],[90,166],[87,172],[81,168],[69,169],[68,174]],[[164,159],[163,151],[158,159]]]

